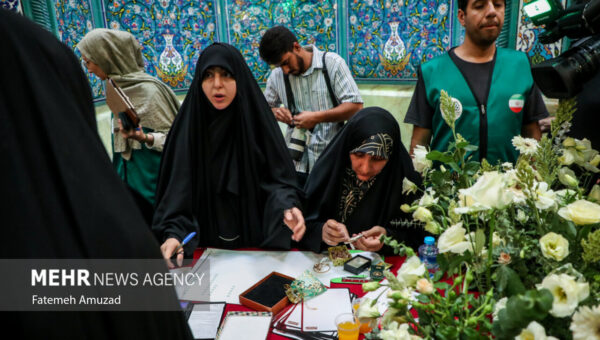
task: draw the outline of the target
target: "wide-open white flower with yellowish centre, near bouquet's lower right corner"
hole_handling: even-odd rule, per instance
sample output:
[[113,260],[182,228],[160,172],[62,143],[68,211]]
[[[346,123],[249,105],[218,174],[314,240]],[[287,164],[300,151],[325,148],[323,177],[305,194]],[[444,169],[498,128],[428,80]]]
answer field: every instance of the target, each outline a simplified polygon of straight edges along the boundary
[[590,286],[587,282],[577,282],[567,274],[550,274],[536,285],[537,289],[548,289],[554,301],[550,314],[562,318],[573,314],[575,308],[582,300],[590,295]]

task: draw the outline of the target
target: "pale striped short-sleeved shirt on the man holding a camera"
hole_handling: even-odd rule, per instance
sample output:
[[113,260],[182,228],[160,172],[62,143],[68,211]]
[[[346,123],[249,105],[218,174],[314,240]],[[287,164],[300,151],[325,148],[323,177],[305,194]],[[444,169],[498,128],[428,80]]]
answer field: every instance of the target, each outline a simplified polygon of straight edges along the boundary
[[[304,48],[309,52],[313,52],[310,67],[299,76],[292,74],[289,76],[296,108],[299,112],[329,110],[334,106],[323,76],[323,52],[319,51],[314,45],[305,46]],[[352,79],[352,74],[344,59],[333,52],[327,52],[325,62],[331,79],[331,87],[337,100],[340,103],[362,103],[358,87]],[[281,104],[287,107],[288,102],[281,67],[277,67],[271,72],[264,93],[271,107],[279,107]],[[324,122],[315,125],[302,159],[294,161],[296,171],[310,172],[327,144],[340,129],[338,123]],[[288,145],[293,130],[288,126],[285,134],[285,142]]]

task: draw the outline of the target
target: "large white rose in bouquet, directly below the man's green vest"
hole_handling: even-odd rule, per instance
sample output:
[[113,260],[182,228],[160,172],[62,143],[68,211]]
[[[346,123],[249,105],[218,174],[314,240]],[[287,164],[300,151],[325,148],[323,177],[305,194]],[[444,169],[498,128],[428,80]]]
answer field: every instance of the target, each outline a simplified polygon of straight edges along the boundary
[[460,189],[461,208],[454,211],[458,214],[503,209],[512,203],[513,193],[507,188],[507,181],[497,171],[484,172],[470,188]]

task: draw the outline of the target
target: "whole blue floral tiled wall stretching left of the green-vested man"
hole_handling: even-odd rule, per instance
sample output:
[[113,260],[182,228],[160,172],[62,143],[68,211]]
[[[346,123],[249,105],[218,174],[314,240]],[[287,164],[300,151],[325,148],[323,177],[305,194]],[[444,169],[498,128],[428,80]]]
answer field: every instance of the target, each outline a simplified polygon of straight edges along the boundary
[[[269,67],[258,55],[258,44],[274,25],[291,28],[301,44],[342,55],[359,82],[411,81],[421,62],[453,44],[454,1],[54,0],[54,4],[58,34],[69,46],[75,48],[93,27],[127,30],[143,46],[146,71],[175,90],[185,90],[199,52],[215,41],[236,46],[256,79],[264,83]],[[92,75],[90,82],[94,98],[101,100],[100,81]]]

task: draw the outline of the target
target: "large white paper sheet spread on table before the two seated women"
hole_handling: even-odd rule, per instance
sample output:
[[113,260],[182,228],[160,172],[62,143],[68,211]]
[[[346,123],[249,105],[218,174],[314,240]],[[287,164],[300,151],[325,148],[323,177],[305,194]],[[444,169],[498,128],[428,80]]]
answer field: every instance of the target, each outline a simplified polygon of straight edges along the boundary
[[[310,270],[325,285],[336,277],[352,275],[343,266],[325,273],[316,273],[313,266],[325,254],[307,251],[234,251],[207,248],[192,272],[206,272],[210,266],[210,301],[226,301],[239,304],[239,295],[273,271],[296,278],[305,270]],[[207,259],[209,262],[207,262]],[[194,286],[179,293],[181,300],[205,301],[202,287]],[[180,290],[181,291],[181,290]]]

